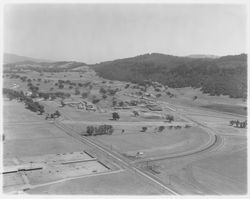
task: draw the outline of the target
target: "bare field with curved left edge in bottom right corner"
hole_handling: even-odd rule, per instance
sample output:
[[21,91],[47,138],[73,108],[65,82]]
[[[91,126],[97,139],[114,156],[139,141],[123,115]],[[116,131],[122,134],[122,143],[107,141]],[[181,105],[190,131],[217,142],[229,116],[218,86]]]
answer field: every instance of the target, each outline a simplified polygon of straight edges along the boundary
[[193,164],[195,179],[218,194],[247,193],[247,151],[226,150]]

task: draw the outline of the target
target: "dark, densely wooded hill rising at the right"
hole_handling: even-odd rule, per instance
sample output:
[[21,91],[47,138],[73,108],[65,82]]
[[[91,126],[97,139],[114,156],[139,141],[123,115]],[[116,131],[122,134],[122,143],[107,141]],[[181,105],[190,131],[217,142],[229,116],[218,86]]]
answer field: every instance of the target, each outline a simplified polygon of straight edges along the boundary
[[201,88],[210,95],[245,97],[247,93],[247,55],[219,58],[177,57],[145,54],[93,65],[100,76],[144,84],[158,81],[173,88]]

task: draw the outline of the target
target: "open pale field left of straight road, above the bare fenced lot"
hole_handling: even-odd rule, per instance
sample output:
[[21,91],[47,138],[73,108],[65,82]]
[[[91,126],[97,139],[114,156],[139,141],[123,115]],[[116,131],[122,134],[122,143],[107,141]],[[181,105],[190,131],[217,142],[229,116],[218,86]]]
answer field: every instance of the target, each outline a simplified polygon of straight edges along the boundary
[[24,108],[22,103],[4,101],[4,158],[81,151],[81,142]]

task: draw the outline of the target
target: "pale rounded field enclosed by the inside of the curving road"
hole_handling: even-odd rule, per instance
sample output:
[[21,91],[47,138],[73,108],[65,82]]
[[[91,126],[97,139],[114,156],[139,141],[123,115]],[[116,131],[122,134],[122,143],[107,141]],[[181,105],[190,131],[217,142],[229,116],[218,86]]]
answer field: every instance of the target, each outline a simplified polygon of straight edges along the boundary
[[96,136],[106,146],[124,154],[142,151],[145,157],[162,156],[187,152],[205,145],[209,135],[203,130],[192,127],[182,130],[164,130],[158,133],[124,133]]

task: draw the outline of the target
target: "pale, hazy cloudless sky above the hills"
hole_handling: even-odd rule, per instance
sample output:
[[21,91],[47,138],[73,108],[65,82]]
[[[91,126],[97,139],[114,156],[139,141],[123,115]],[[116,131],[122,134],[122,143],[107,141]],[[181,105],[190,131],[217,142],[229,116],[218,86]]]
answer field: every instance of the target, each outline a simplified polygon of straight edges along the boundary
[[246,7],[216,4],[6,4],[4,52],[55,61],[246,52]]

